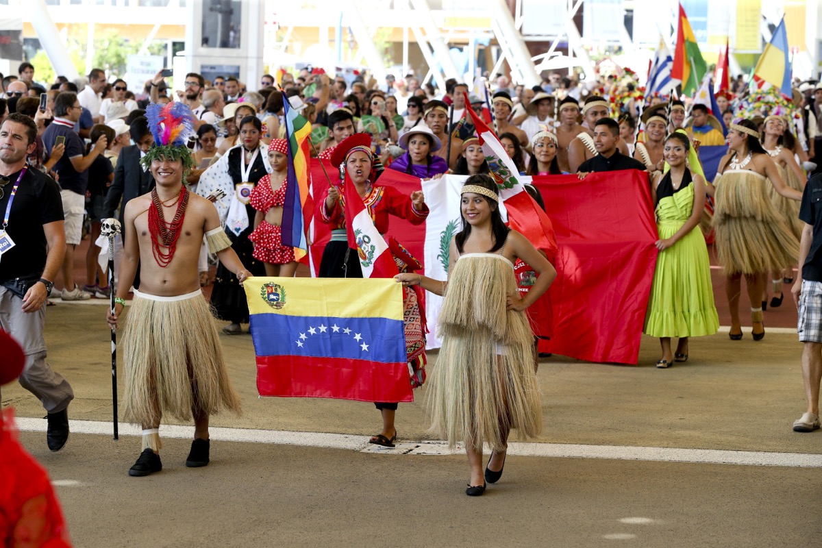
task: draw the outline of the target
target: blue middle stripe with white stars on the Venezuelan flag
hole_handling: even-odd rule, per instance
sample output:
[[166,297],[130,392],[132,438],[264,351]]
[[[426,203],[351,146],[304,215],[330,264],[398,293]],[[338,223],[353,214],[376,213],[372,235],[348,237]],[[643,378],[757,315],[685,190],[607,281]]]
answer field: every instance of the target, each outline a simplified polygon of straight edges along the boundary
[[407,361],[401,320],[253,314],[251,331],[257,356]]

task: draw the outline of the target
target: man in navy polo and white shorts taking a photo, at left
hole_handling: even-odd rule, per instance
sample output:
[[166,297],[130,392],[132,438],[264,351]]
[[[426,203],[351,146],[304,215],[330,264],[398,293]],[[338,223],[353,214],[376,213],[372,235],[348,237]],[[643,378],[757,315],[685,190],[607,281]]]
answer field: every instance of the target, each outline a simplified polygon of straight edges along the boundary
[[91,296],[74,283],[74,248],[83,234],[83,214],[85,213],[85,190],[89,185],[89,166],[99,154],[106,150],[109,141],[99,137],[95,146],[85,155],[83,140],[74,131],[74,124],[80,119],[82,108],[77,94],[65,91],[54,99],[54,121],[43,133],[46,154],[51,156],[58,138],[65,140],[66,150],[54,171],[59,175],[60,197],[66,225],[66,254],[62,261],[62,300],[81,301]]

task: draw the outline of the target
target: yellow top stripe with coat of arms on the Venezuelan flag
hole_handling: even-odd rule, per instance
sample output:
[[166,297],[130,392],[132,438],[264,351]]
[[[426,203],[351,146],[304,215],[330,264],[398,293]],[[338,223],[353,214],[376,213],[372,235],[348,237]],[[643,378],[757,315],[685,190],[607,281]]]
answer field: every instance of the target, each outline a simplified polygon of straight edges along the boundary
[[242,287],[252,315],[403,319],[402,284],[391,278],[260,277]]

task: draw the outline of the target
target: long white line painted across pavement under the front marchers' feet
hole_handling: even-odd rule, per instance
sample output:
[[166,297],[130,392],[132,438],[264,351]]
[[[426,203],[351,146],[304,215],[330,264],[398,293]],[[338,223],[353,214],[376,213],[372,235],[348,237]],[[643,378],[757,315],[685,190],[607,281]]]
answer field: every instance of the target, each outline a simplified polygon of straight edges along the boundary
[[[26,432],[44,432],[47,423],[40,418],[16,417],[18,428]],[[76,434],[112,435],[108,421],[69,421]],[[160,426],[160,436],[165,438],[191,439],[193,426]],[[349,449],[379,454],[455,454],[461,449],[448,449],[444,441],[404,442],[394,449],[369,444],[369,436],[328,434],[323,432],[289,432],[224,428],[212,426],[212,440],[239,441],[258,444],[301,445]],[[139,426],[120,423],[119,433],[124,436],[141,435]],[[610,458],[617,460],[662,461],[670,463],[737,464],[743,466],[822,467],[822,454],[774,453],[766,451],[731,451],[723,449],[676,449],[669,447],[641,447],[621,445],[511,443],[509,453],[524,457],[549,458]]]

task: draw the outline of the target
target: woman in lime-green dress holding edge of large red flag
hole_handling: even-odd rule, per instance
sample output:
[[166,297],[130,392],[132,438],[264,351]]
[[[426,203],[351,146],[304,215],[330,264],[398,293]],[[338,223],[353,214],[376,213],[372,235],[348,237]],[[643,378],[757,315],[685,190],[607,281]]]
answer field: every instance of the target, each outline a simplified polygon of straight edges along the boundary
[[[705,206],[705,181],[686,166],[689,150],[686,135],[667,136],[663,156],[671,169],[657,174],[651,187],[657,205],[659,255],[644,333],[659,338],[663,348],[663,357],[657,361],[660,369],[673,361],[688,360],[689,337],[712,335],[719,327],[708,248],[697,229]],[[673,356],[672,337],[679,338]]]

